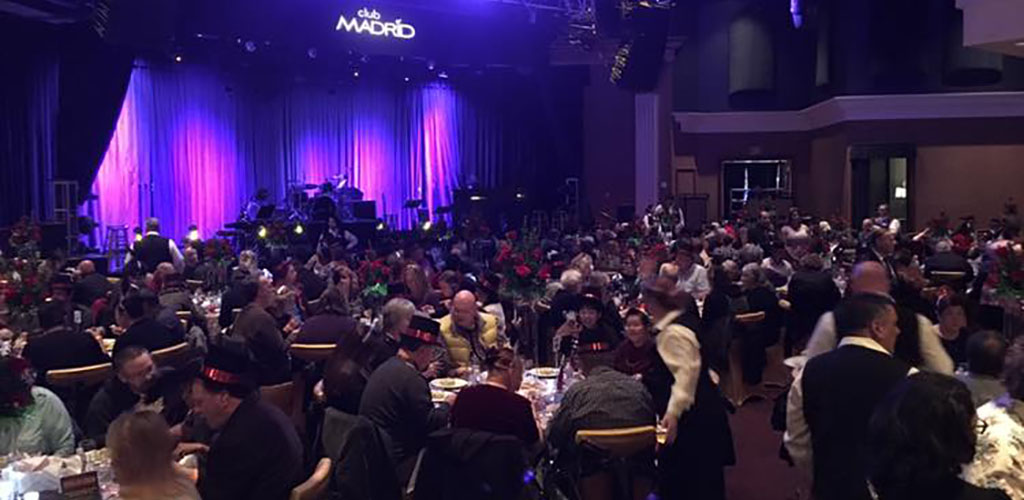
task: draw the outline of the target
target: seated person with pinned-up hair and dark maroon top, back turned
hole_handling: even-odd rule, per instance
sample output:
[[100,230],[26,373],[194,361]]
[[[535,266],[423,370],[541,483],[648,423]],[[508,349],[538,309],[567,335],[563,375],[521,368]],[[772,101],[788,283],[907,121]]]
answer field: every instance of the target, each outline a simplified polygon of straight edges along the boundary
[[526,446],[538,442],[529,401],[516,393],[522,383],[522,360],[509,347],[489,348],[483,361],[487,379],[466,387],[452,407],[452,424],[496,434],[515,435]]

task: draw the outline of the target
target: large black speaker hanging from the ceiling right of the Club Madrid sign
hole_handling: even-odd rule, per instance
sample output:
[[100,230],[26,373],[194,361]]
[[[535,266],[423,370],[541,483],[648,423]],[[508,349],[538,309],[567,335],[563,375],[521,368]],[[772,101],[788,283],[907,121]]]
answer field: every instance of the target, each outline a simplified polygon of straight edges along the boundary
[[620,88],[649,92],[657,88],[669,35],[669,8],[647,2],[629,2],[628,35],[615,52],[611,82]]

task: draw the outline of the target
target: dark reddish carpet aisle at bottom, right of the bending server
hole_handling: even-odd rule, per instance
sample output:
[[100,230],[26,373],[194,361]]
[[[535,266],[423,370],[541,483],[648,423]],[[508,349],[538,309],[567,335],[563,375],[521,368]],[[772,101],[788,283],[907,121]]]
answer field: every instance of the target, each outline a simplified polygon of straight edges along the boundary
[[731,415],[736,465],[726,468],[728,500],[798,500],[797,470],[778,458],[782,433],[771,428],[772,402],[750,401]]

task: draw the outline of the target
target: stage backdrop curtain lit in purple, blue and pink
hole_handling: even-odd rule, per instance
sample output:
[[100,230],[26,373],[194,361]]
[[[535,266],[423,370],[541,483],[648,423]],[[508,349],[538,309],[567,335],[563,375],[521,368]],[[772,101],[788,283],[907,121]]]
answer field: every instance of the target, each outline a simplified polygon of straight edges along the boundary
[[131,228],[152,214],[168,236],[191,223],[210,236],[259,187],[283,200],[290,182],[348,175],[378,214],[409,226],[406,200],[433,214],[457,186],[526,178],[548,155],[527,132],[546,127],[504,115],[523,112],[514,98],[503,108],[501,96],[440,81],[267,87],[202,66],[137,64],[93,183],[100,222]]

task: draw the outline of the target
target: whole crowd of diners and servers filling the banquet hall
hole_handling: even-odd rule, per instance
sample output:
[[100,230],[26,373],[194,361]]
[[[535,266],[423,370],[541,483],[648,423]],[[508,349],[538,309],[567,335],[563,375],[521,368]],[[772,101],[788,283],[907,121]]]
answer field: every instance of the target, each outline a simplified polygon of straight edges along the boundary
[[[89,440],[111,448],[128,497],[215,500],[287,498],[327,456],[331,488],[398,498],[417,470],[477,456],[453,447],[514,443],[529,467],[568,478],[535,486],[571,492],[610,466],[579,431],[651,426],[663,443],[631,473],[658,498],[722,499],[736,461],[727,415],[742,404],[726,385],[767,390],[784,356],[784,451],[817,498],[1024,500],[1024,344],[999,323],[997,268],[1021,252],[1014,210],[988,231],[940,218],[918,234],[888,207],[857,226],[796,209],[680,218],[654,207],[586,230],[217,260],[147,220],[120,281],[91,261],[51,269],[37,324],[0,360],[0,453]],[[532,267],[503,268],[487,248]],[[530,293],[508,272],[535,277]],[[219,295],[219,316],[197,290]],[[182,344],[190,361],[159,362]],[[319,361],[293,352],[310,344]],[[84,403],[47,376],[102,364],[110,377]],[[580,374],[559,378],[550,420],[521,395],[531,366]],[[475,384],[434,394],[444,377]],[[267,395],[281,386],[288,405]],[[195,486],[171,464],[186,454],[202,457]]]

